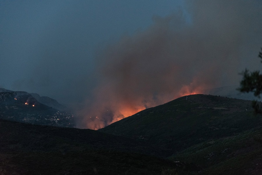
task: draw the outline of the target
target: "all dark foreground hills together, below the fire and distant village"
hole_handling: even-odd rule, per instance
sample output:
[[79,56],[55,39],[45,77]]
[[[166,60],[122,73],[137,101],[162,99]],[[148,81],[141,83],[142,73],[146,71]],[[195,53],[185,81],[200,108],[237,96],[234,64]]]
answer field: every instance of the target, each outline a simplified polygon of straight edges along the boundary
[[98,131],[0,120],[0,174],[262,174],[262,118],[190,95]]

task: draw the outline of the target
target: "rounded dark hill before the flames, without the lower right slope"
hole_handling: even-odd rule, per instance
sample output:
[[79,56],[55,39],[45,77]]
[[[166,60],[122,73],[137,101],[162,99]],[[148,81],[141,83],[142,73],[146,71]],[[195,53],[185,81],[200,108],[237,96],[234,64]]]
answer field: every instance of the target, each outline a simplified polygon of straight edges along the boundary
[[189,95],[148,108],[99,131],[145,139],[176,151],[261,125],[251,101]]

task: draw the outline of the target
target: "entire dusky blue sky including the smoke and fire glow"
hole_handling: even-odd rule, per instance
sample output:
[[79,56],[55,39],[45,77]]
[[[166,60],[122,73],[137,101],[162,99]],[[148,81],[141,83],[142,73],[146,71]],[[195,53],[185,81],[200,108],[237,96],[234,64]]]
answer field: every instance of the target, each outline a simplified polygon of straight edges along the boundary
[[245,68],[261,70],[261,9],[261,0],[2,0],[0,88],[77,108],[78,127],[91,129],[234,89]]

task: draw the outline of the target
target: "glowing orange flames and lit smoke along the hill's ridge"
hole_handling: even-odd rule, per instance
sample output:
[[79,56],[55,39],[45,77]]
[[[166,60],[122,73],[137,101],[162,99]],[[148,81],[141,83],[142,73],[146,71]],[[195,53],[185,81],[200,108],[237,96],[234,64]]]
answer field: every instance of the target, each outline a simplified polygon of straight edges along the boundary
[[[112,94],[107,92],[103,97],[107,97],[108,103],[104,104],[102,102],[102,106],[98,105],[94,108],[98,108],[93,111],[91,116],[88,116],[86,121],[86,127],[89,129],[100,129],[107,125],[110,125],[114,122],[122,120],[123,118],[134,115],[146,108],[151,108],[157,105],[161,105],[167,103],[171,100],[177,99],[179,97],[194,95],[194,94],[203,94],[206,93],[206,90],[212,87],[213,85],[207,81],[203,81],[197,77],[194,77],[191,83],[187,85],[182,85],[180,87],[174,87],[174,89],[170,89],[166,93],[159,93],[155,96],[150,94],[141,94],[141,95],[125,95],[124,97],[118,96],[118,94],[114,94],[114,88],[112,89]],[[107,90],[111,88],[107,88]],[[102,93],[104,91],[102,90]],[[110,92],[110,91],[109,91]],[[130,94],[136,92],[130,92]],[[107,96],[109,94],[109,96]],[[119,99],[114,99],[115,97],[121,97]],[[104,101],[104,98],[101,98],[101,101]],[[99,103],[98,103],[99,104]],[[111,111],[109,114],[104,114],[104,109],[108,109],[107,111]]]

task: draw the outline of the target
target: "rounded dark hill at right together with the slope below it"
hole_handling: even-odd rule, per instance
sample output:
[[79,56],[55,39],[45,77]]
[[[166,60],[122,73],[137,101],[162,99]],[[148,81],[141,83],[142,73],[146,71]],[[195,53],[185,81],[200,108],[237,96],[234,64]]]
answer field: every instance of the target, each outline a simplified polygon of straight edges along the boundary
[[[220,174],[246,174],[240,171],[256,172],[251,162],[261,160],[261,126],[261,116],[253,115],[251,101],[189,95],[99,131],[171,149],[171,159],[197,163],[207,168],[203,174],[219,174],[222,167]],[[241,160],[245,157],[249,162]],[[262,170],[261,162],[254,167]]]

